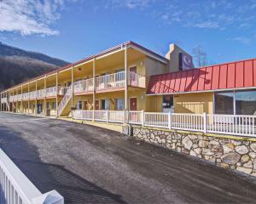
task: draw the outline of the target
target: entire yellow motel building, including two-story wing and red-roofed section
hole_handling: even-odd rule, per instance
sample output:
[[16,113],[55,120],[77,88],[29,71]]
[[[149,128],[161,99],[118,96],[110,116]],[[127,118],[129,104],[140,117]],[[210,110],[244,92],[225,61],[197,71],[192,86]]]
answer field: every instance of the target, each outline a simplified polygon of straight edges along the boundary
[[[70,116],[73,110],[255,115],[256,59],[195,69],[171,44],[166,56],[124,42],[1,93],[1,111]],[[252,99],[248,99],[248,96]]]

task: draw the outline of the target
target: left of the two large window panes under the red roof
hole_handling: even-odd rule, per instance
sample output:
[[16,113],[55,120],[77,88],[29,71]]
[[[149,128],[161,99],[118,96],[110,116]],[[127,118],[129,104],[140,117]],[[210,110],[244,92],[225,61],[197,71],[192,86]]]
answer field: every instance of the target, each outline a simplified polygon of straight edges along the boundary
[[215,113],[234,114],[233,92],[215,93]]

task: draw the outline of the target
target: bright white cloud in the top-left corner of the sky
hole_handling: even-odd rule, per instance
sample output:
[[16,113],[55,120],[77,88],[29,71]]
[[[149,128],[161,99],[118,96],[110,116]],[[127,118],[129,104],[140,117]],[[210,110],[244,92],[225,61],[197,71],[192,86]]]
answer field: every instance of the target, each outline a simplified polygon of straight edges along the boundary
[[0,0],[0,31],[22,36],[57,35],[50,26],[61,17],[64,0]]

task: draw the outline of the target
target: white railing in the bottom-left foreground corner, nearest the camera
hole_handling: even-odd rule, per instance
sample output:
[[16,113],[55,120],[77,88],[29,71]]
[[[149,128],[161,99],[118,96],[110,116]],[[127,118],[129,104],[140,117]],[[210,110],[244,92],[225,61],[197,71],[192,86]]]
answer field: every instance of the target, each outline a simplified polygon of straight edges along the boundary
[[13,161],[0,149],[1,204],[63,204],[55,190],[42,194]]

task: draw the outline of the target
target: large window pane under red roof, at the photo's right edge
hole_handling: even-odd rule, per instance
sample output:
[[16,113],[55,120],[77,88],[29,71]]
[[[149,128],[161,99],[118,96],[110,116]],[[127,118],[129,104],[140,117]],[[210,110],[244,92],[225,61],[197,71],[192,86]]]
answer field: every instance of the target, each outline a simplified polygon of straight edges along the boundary
[[237,115],[256,115],[256,91],[239,91],[235,94]]

